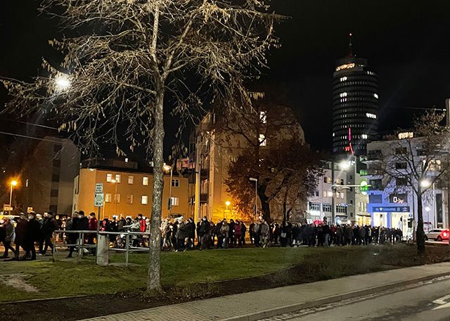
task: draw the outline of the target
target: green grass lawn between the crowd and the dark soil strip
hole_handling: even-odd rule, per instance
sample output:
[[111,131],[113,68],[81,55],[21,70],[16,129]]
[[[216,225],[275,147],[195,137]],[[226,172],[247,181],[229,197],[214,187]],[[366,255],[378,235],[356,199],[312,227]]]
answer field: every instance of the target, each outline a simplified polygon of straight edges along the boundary
[[[448,256],[447,249],[440,251],[442,253],[439,252],[439,258],[435,261],[443,261]],[[110,261],[123,262],[124,256],[113,254]],[[0,301],[142,291],[146,285],[147,255],[131,254],[129,261],[138,266],[100,267],[94,264],[91,257],[81,263],[3,262],[0,263],[1,277],[20,273],[24,275],[23,280],[36,287],[38,292],[21,291],[0,283]],[[163,252],[162,283],[169,287],[184,287],[198,283],[258,277],[280,270],[286,271],[299,265],[302,271],[304,270],[304,275],[314,281],[419,263],[415,258],[415,248],[404,245]]]

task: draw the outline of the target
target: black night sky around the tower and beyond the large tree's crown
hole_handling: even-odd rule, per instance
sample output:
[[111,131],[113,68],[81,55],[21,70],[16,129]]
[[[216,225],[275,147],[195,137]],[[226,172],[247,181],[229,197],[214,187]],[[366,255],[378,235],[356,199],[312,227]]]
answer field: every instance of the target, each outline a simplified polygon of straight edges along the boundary
[[[0,10],[0,74],[27,79],[41,57],[55,59],[47,45],[53,22],[37,15],[37,1],[3,1]],[[411,108],[444,107],[450,97],[450,1],[272,0],[290,16],[278,27],[283,46],[272,51],[264,81],[277,84],[314,148],[331,144],[332,77],[335,60],[354,53],[368,58],[380,79],[380,127],[407,127]],[[0,101],[4,101],[4,91]],[[0,123],[1,124],[1,123]]]

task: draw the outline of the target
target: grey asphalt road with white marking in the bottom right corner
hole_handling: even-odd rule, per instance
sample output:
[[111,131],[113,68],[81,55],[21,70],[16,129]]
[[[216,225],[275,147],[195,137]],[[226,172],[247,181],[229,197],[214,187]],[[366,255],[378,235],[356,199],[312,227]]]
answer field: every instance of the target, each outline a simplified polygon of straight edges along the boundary
[[300,310],[264,321],[448,321],[450,280],[425,282],[403,291]]

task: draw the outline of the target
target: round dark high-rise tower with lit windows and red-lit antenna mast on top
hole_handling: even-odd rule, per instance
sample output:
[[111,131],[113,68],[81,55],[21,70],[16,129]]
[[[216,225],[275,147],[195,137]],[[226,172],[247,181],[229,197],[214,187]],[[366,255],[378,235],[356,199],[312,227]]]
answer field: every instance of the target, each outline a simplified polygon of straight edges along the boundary
[[333,74],[333,152],[365,155],[378,136],[378,77],[367,60],[349,55],[336,61]]

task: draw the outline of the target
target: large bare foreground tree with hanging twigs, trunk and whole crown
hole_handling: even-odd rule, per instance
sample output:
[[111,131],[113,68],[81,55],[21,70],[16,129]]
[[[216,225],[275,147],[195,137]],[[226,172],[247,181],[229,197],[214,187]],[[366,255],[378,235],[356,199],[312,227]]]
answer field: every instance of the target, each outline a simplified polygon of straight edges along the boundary
[[65,58],[57,68],[44,61],[46,77],[4,79],[8,111],[55,114],[91,154],[103,143],[119,154],[124,141],[147,148],[155,183],[146,294],[158,293],[164,115],[187,122],[212,100],[227,114],[251,108],[245,83],[266,67],[281,17],[266,0],[44,0],[41,10],[75,35],[51,41]]

